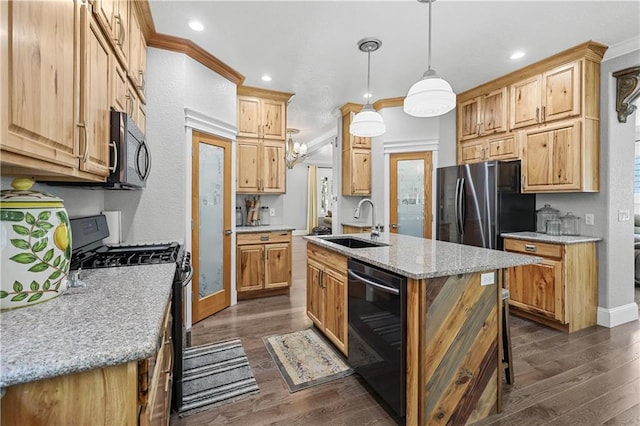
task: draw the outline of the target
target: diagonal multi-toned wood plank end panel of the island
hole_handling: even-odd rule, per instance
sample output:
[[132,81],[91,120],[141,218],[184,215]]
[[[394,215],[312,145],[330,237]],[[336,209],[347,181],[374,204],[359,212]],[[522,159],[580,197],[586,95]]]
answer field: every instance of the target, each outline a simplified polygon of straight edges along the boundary
[[478,272],[447,277],[444,284],[427,280],[425,293],[432,281],[440,291],[425,294],[420,417],[422,424],[466,424],[498,408],[499,288],[481,286]]

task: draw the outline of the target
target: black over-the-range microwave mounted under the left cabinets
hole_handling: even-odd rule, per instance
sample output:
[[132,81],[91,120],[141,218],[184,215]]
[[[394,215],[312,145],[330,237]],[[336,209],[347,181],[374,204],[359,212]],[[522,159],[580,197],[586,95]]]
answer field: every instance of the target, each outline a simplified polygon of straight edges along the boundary
[[138,189],[146,186],[151,151],[144,134],[124,112],[111,111],[110,170],[105,186]]

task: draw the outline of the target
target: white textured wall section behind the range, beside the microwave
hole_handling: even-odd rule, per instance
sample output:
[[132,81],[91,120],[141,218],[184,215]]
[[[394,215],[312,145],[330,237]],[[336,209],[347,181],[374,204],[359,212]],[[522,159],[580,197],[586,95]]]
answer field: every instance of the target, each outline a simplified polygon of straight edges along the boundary
[[147,142],[152,159],[147,187],[105,195],[107,210],[122,211],[124,241],[185,240],[185,61],[179,53],[147,51]]

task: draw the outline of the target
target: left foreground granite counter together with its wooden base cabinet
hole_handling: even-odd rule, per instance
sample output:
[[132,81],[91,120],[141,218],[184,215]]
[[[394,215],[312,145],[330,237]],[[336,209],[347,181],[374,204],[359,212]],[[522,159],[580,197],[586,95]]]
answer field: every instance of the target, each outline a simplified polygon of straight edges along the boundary
[[171,362],[175,268],[83,271],[86,287],[0,313],[2,424],[138,424],[161,396],[148,360]]

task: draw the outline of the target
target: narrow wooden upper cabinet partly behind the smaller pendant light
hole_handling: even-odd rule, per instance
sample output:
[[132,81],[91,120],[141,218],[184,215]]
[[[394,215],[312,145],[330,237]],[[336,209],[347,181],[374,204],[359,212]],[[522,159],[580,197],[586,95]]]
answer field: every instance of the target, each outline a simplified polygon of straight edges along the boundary
[[353,136],[349,126],[362,105],[342,106],[342,195],[371,195],[371,138]]

